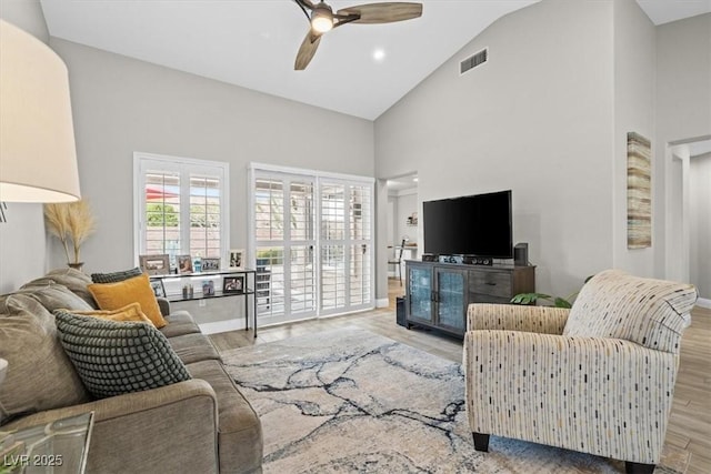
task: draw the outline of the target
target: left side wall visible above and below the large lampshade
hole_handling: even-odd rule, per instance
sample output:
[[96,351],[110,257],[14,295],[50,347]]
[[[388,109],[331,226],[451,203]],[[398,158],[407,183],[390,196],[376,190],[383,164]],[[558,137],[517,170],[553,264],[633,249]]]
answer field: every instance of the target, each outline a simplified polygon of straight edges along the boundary
[[[44,14],[37,0],[2,0],[0,18],[49,40]],[[0,293],[8,293],[46,270],[44,220],[41,204],[8,203],[8,222],[0,223]]]

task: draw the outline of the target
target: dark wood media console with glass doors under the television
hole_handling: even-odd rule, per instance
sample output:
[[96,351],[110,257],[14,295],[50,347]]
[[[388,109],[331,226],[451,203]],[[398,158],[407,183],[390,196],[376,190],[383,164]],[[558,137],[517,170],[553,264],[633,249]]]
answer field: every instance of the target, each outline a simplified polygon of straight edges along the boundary
[[463,337],[470,303],[509,303],[535,291],[535,266],[405,262],[407,327]]

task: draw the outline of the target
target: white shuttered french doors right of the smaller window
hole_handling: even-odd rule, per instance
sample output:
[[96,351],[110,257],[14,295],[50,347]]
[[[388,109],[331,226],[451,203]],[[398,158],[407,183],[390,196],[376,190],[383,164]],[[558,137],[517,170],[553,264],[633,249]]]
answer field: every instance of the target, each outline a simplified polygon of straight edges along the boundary
[[260,324],[372,307],[372,180],[250,175]]

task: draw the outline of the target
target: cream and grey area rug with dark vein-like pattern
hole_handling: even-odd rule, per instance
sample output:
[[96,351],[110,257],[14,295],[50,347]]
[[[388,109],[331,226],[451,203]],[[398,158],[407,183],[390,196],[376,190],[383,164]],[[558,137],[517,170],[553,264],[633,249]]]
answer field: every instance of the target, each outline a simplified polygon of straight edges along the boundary
[[489,453],[474,451],[461,365],[368,331],[222,357],[261,418],[264,473],[624,472],[619,461],[497,436]]

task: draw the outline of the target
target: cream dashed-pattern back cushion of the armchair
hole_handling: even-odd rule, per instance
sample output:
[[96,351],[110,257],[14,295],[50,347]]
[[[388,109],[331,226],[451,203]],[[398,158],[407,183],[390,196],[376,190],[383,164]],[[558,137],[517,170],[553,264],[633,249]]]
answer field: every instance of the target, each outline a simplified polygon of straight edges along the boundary
[[608,270],[582,288],[563,335],[624,339],[678,353],[695,301],[697,290],[691,284]]

